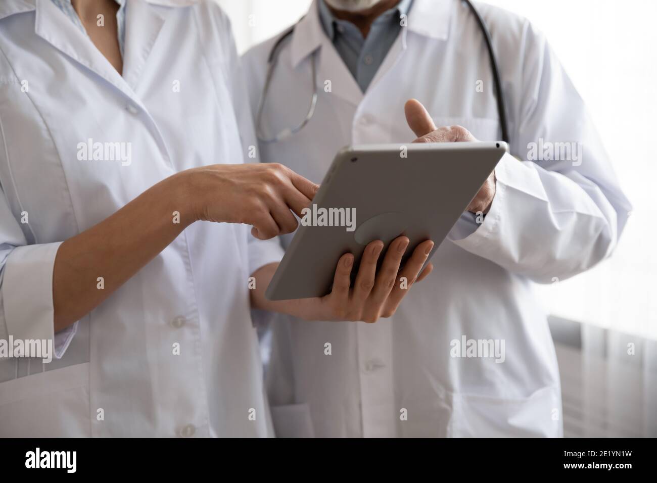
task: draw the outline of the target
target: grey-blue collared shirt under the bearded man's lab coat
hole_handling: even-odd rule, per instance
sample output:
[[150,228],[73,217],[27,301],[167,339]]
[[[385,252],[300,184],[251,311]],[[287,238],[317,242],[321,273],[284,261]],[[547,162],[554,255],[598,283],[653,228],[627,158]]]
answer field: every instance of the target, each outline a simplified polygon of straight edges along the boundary
[[367,37],[348,20],[338,20],[324,0],[319,5],[319,18],[325,34],[349,68],[353,78],[365,92],[376,71],[401,32],[402,15],[408,16],[413,0],[401,0],[374,20]]

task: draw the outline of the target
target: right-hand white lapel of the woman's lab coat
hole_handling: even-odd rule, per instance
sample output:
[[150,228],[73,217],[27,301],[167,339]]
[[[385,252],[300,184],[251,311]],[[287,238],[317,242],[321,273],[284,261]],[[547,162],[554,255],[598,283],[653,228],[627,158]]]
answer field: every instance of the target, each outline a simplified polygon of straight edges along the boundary
[[129,1],[126,7],[123,76],[135,90],[168,11],[145,1]]

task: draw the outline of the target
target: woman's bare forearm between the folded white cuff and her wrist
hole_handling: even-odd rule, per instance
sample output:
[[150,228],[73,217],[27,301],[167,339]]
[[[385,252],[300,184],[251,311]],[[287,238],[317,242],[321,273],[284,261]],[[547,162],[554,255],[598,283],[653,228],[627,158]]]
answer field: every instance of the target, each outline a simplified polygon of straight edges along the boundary
[[187,193],[183,173],[173,175],[60,245],[53,270],[56,332],[101,304],[193,223]]

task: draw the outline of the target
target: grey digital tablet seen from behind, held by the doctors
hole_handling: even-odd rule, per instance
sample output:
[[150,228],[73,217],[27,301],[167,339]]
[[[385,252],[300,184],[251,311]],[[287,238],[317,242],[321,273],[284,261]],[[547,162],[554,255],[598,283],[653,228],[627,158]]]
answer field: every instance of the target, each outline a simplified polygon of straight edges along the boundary
[[328,294],[340,256],[354,255],[355,277],[365,246],[374,240],[386,244],[379,262],[399,235],[410,240],[402,265],[427,239],[435,243],[431,258],[507,149],[499,141],[340,150],[265,296],[288,300]]

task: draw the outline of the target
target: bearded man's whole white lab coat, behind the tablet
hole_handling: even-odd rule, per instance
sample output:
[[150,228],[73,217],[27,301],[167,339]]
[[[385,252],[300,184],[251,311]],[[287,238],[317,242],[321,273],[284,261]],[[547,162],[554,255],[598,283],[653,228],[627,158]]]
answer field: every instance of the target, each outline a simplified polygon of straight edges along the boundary
[[[514,14],[479,8],[499,59],[512,154],[527,160],[528,144],[539,138],[578,141],[582,162],[505,155],[484,222],[461,217],[432,260],[434,273],[413,287],[392,319],[367,325],[281,317],[273,324],[267,388],[278,434],[562,434],[555,350],[534,284],[572,277],[606,258],[630,207],[545,38]],[[272,45],[244,57],[252,108]],[[501,136],[486,45],[461,2],[415,0],[407,28],[365,94],[323,33],[313,4],[281,51],[263,115],[266,135],[304,119],[315,51],[315,116],[286,141],[261,144],[264,162],[321,182],[345,145],[412,141],[403,106],[414,97],[436,126],[460,124],[482,141]],[[283,244],[289,241],[284,237]],[[504,340],[504,362],[451,357],[452,341],[463,336]]]

